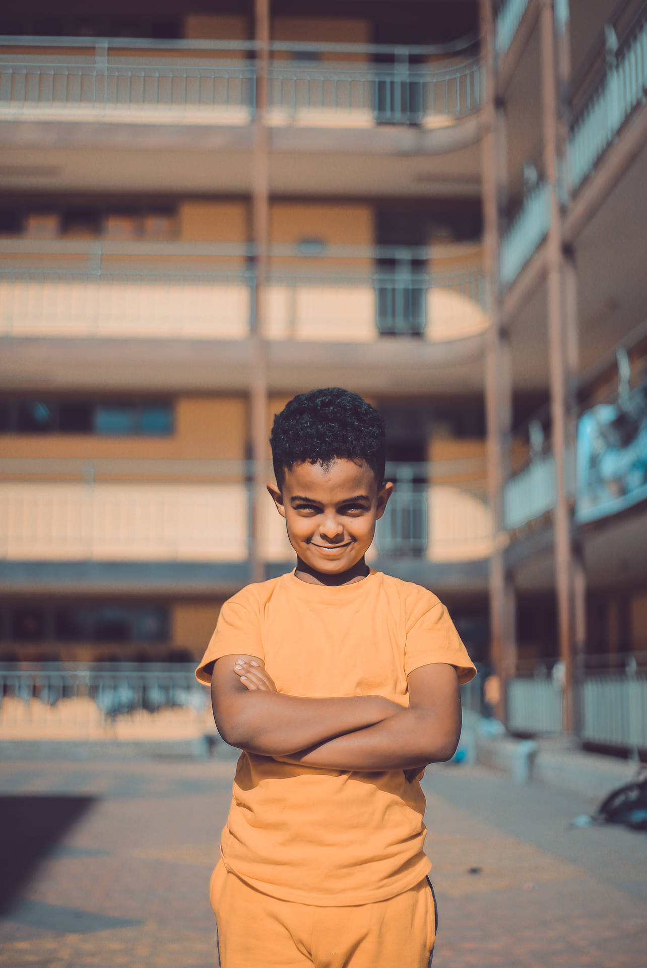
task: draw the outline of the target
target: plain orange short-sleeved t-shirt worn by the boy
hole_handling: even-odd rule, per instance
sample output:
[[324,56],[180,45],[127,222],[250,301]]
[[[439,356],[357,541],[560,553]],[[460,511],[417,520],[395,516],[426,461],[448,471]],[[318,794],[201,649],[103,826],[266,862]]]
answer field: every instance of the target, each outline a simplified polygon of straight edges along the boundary
[[[244,652],[263,659],[279,692],[386,696],[408,705],[406,677],[433,662],[476,670],[430,591],[371,570],[330,588],[294,572],[249,585],[224,603],[196,676]],[[368,904],[428,872],[425,797],[401,770],[342,772],[243,752],[221,836],[228,870],[258,891],[303,904]]]

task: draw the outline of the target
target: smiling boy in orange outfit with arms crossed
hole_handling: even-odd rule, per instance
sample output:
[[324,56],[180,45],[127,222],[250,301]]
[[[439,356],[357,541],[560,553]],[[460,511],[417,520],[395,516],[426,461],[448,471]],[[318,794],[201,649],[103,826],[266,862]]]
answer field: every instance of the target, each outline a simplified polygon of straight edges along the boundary
[[454,755],[475,669],[435,595],[366,563],[393,491],[377,411],[313,390],[271,444],[297,566],[225,602],[196,674],[243,749],[210,885],[221,968],[424,968],[420,778]]

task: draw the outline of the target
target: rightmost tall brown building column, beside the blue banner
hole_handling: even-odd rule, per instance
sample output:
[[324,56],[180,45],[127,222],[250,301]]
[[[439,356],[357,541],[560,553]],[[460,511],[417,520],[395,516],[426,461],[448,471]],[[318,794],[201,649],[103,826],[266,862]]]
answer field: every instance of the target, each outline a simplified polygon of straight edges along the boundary
[[[546,315],[548,335],[548,374],[552,449],[555,461],[556,502],[554,513],[554,570],[557,598],[557,632],[559,655],[564,664],[564,731],[573,732],[573,513],[569,495],[569,398],[567,368],[567,326],[565,320],[565,259],[562,248],[562,208],[565,192],[565,125],[560,94],[562,80],[568,71],[563,35],[565,23],[558,23],[560,37],[555,36],[553,4],[543,0],[540,15],[542,71],[542,120],[544,135],[544,178],[551,189],[551,225],[546,239],[547,278]],[[572,343],[572,340],[570,341]],[[576,376],[576,374],[575,374]]]

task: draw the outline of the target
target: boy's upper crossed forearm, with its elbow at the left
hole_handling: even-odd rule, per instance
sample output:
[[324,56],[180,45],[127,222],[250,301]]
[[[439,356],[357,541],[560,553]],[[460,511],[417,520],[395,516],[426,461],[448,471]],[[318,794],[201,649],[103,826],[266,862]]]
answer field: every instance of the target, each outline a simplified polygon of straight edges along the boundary
[[381,696],[309,699],[245,690],[236,697],[233,714],[221,718],[217,712],[216,723],[232,746],[265,756],[286,756],[362,730],[399,710]]

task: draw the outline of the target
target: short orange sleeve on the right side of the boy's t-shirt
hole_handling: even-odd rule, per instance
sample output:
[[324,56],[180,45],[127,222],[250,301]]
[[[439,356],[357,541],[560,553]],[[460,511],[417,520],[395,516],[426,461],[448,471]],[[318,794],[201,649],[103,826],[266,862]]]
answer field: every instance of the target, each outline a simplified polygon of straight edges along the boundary
[[443,603],[435,595],[430,598],[431,601],[417,602],[408,616],[404,645],[405,675],[424,665],[446,662],[456,668],[458,681],[462,685],[476,676],[474,663]]

